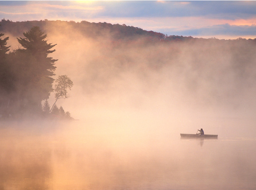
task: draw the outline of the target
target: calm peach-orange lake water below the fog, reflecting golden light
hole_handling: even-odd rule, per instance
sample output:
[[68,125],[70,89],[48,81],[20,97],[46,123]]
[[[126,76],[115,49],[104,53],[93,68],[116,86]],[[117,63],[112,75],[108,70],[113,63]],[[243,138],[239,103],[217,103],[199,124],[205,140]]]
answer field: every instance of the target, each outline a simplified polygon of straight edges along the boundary
[[256,138],[189,140],[108,121],[1,125],[0,190],[256,189]]

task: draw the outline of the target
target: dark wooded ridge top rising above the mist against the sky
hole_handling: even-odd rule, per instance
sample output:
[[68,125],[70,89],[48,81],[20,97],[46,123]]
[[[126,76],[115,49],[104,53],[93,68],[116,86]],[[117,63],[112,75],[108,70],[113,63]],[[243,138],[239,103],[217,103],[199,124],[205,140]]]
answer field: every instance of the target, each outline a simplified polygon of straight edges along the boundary
[[167,36],[166,34],[154,32],[154,31],[146,31],[144,29],[134,27],[134,26],[126,26],[125,24],[110,24],[110,23],[90,23],[88,21],[49,21],[47,19],[40,21],[17,21],[13,22],[10,20],[3,19],[0,21],[0,31],[2,33],[12,34],[13,36],[22,36],[24,31],[28,31],[33,26],[39,26],[45,33],[48,33],[49,26],[52,29],[62,30],[62,26],[73,27],[77,31],[82,32],[84,35],[92,38],[97,38],[97,36],[104,36],[104,34],[110,34],[110,37],[113,39],[133,39],[133,38],[151,38],[154,40],[166,40],[166,41],[182,41],[187,39],[194,39],[193,37],[184,37],[184,36]]

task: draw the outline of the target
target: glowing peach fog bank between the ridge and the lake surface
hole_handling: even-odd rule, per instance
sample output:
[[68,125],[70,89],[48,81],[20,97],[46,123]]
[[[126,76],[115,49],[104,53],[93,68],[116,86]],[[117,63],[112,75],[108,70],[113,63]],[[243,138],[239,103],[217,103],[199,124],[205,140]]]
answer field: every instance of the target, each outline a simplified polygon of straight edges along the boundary
[[137,117],[142,123],[167,123],[177,133],[203,127],[239,135],[254,128],[254,42],[116,41],[108,30],[92,38],[73,27],[49,23],[44,28],[48,42],[57,44],[51,55],[59,59],[56,76],[67,74],[74,82],[70,98],[57,102],[72,117],[123,118],[124,123]]

